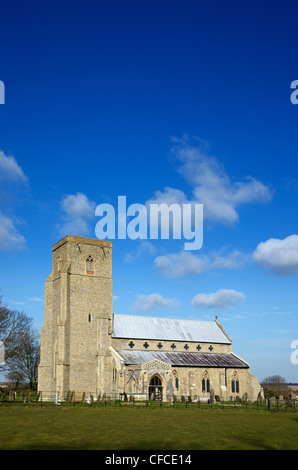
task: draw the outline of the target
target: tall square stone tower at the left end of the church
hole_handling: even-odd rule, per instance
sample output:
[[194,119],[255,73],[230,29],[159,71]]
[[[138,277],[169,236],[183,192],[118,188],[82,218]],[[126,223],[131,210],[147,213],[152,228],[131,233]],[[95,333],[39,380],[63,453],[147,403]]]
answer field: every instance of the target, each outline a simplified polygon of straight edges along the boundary
[[68,235],[52,251],[38,389],[109,394],[112,242]]

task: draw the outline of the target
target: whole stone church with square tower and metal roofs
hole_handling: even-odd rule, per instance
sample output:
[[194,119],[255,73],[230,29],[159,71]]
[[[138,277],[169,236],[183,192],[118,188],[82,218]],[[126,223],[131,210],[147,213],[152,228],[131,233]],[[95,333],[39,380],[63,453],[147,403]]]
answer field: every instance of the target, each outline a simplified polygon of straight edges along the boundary
[[257,399],[261,386],[218,322],[113,313],[112,242],[68,235],[45,282],[38,391],[169,401]]

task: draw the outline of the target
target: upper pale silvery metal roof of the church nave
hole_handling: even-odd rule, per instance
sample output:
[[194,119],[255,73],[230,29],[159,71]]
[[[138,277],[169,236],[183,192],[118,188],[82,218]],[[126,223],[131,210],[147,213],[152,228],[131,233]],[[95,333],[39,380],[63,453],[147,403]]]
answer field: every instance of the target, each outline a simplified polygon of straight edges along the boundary
[[114,338],[231,344],[215,321],[114,314]]

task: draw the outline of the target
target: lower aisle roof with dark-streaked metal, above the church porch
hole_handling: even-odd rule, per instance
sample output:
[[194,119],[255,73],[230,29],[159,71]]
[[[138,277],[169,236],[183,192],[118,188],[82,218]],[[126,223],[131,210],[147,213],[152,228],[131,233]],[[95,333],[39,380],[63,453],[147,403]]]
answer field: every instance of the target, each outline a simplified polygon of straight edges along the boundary
[[193,366],[193,367],[232,367],[248,368],[249,365],[239,357],[231,354],[215,353],[189,353],[171,351],[141,351],[116,349],[125,364],[144,364],[159,359],[172,366]]

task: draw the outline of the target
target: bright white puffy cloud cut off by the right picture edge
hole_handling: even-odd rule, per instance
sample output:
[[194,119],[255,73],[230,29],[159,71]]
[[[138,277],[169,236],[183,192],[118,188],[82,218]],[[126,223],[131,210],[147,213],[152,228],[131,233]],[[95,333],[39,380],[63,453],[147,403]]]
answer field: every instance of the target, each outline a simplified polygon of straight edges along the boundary
[[280,275],[298,274],[298,235],[259,243],[253,259]]

